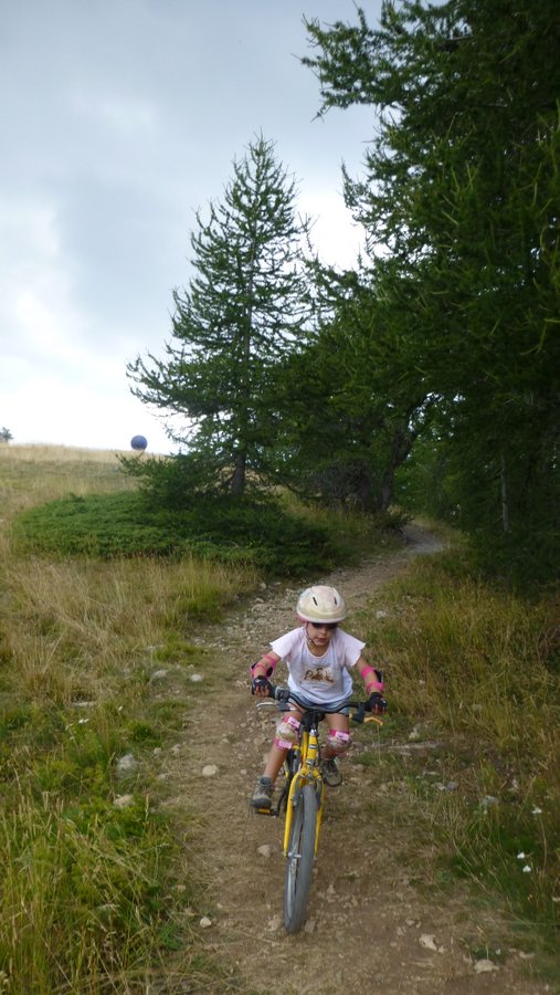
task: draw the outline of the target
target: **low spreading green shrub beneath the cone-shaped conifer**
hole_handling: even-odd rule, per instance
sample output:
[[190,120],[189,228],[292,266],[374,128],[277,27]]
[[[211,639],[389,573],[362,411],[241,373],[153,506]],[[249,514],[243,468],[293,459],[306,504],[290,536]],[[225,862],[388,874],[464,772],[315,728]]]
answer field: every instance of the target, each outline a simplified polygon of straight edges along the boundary
[[19,516],[20,549],[34,554],[115,558],[181,557],[252,564],[275,575],[330,568],[335,536],[271,500],[194,495],[177,511],[144,494],[71,496]]

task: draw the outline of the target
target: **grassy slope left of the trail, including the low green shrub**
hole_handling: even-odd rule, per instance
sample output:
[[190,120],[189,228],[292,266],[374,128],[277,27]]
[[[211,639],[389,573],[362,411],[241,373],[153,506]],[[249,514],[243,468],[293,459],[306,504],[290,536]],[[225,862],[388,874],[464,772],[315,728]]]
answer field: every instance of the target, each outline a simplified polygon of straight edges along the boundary
[[[197,974],[191,816],[163,815],[154,773],[210,690],[193,632],[273,561],[316,570],[374,530],[257,509],[220,527],[214,514],[202,543],[197,509],[190,531],[144,522],[131,545],[138,495],[114,452],[0,447],[0,988],[145,992],[177,947]],[[154,555],[155,536],[173,555]]]

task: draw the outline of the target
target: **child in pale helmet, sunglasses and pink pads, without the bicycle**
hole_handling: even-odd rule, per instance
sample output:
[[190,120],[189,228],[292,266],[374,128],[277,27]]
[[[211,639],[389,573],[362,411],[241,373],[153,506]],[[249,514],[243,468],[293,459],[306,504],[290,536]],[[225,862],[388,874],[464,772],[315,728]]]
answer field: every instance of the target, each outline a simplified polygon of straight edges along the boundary
[[381,672],[361,654],[366,643],[339,628],[347,611],[336,588],[308,587],[299,596],[296,614],[302,625],[271,642],[271,652],[251,668],[252,693],[268,698],[272,689],[268,679],[278,661],[284,660],[288,668],[288,689],[302,701],[302,709],[290,702],[289,711],[276,726],[266,766],[251,798],[253,808],[271,808],[274,783],[287,751],[297,743],[306,705],[320,708],[325,704],[329,709],[339,705],[325,715],[328,733],[321,750],[321,773],[330,787],[341,783],[337,757],[344,756],[351,745],[347,706],[352,695],[350,671],[357,670],[363,680],[371,711],[376,714],[387,712]]

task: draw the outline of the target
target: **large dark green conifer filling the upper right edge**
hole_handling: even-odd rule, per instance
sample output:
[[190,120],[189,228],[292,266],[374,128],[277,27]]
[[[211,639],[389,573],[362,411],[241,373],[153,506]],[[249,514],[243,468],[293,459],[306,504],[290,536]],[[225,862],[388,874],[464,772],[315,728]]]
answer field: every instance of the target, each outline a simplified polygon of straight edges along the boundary
[[429,438],[439,476],[450,467],[461,525],[489,563],[551,574],[560,551],[558,3],[385,0],[379,29],[360,8],[357,17],[327,29],[310,22],[315,52],[304,61],[318,76],[321,113],[366,104],[378,115],[364,176],[346,176],[345,187],[373,250],[378,317],[390,317],[394,356],[408,357],[419,395],[437,401]]

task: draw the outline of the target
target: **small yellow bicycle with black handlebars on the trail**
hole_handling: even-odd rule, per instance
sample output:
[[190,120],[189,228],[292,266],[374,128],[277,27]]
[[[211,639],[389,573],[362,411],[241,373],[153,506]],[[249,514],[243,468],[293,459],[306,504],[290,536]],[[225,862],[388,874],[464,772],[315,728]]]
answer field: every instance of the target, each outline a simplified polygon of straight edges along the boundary
[[[319,723],[327,712],[335,710],[326,704],[317,709],[305,708],[297,695],[285,688],[273,688],[271,696],[258,702],[257,708],[272,704],[281,711],[288,711],[290,701],[304,710],[298,743],[286,754],[285,781],[276,807],[257,810],[271,816],[279,816],[283,810],[286,814],[283,844],[287,861],[284,882],[284,928],[287,933],[297,933],[305,921],[325,802]],[[355,710],[353,722],[383,724],[378,716],[366,718],[366,712],[370,711],[369,702],[349,701],[347,705]]]

